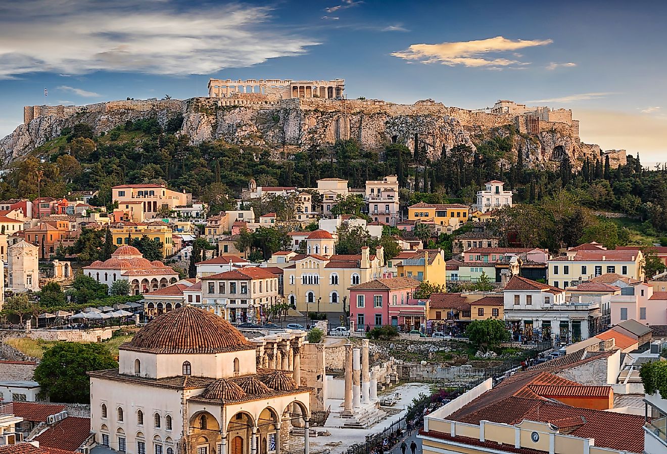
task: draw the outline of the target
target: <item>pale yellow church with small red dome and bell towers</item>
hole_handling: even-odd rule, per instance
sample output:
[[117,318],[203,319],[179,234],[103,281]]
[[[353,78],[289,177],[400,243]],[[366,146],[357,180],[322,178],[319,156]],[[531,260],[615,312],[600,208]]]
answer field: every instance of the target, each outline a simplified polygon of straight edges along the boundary
[[350,286],[382,278],[384,248],[378,246],[376,254],[364,246],[361,254],[325,256],[333,250],[334,240],[330,234],[320,238],[325,236],[321,232],[325,230],[315,230],[314,238],[306,239],[309,254],[294,256],[293,263],[283,268],[283,294],[302,312],[341,313],[350,307]]

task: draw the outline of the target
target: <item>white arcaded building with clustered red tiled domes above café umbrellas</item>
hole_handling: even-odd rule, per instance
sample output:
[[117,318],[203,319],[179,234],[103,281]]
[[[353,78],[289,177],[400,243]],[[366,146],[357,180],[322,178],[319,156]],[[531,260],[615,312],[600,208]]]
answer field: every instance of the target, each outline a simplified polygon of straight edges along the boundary
[[95,260],[83,267],[83,274],[111,287],[118,279],[129,280],[132,294],[165,288],[179,280],[179,275],[159,260],[147,260],[134,246],[120,246],[108,260]]

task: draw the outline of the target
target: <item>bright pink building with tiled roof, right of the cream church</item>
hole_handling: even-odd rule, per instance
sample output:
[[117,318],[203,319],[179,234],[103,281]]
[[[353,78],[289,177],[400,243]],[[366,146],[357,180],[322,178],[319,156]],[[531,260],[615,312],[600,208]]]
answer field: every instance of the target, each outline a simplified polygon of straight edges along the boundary
[[426,322],[426,304],[412,299],[420,282],[412,278],[374,279],[350,287],[351,328],[364,331],[392,324],[410,330]]

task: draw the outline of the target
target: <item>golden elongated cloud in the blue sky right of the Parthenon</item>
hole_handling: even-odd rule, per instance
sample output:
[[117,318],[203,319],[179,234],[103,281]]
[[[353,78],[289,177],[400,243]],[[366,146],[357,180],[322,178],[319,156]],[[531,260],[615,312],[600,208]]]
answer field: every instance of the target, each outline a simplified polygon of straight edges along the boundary
[[524,49],[552,43],[551,39],[507,39],[502,36],[476,41],[458,41],[440,44],[413,44],[404,51],[392,53],[408,61],[421,63],[442,63],[443,65],[464,65],[468,67],[506,67],[526,65],[521,61],[488,54]]

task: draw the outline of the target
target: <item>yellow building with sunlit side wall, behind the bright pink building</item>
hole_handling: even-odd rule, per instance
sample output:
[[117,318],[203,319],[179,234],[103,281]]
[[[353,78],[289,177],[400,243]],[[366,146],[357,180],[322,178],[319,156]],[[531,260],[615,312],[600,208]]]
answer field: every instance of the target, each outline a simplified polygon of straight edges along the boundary
[[447,263],[442,249],[424,249],[401,252],[392,260],[400,278],[428,280],[432,284],[442,285],[447,282]]

